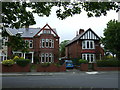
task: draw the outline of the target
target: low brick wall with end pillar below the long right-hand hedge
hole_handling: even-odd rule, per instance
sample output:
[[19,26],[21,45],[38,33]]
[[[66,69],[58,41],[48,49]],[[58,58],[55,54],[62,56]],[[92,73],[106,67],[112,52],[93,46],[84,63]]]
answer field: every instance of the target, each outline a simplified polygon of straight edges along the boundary
[[120,71],[120,67],[97,67],[97,64],[94,63],[95,71]]

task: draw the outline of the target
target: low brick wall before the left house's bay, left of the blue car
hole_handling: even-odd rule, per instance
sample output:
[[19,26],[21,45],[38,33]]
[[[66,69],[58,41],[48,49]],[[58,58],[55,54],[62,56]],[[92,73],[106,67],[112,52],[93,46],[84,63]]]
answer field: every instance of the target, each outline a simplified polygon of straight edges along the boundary
[[48,67],[43,67],[40,64],[37,64],[37,72],[65,72],[66,66],[63,64],[62,66],[58,67],[54,64],[51,64]]

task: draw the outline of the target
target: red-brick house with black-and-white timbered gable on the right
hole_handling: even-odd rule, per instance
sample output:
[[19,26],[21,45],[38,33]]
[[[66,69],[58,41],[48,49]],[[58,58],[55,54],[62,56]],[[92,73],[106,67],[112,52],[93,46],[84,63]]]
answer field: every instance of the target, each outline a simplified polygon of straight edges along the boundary
[[95,62],[104,56],[100,46],[100,37],[92,30],[79,30],[76,37],[66,45],[66,57],[68,59],[84,59],[89,63]]

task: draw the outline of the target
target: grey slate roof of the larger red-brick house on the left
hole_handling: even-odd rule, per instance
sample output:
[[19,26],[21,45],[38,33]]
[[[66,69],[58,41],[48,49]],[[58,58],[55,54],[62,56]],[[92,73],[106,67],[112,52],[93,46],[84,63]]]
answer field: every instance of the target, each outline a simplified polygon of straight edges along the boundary
[[[15,35],[17,33],[21,34],[21,37],[28,37],[28,38],[32,38],[34,37],[39,31],[41,30],[41,28],[19,28],[19,29],[12,29],[12,28],[7,28],[7,32],[11,35]],[[53,29],[56,33],[56,29]]]

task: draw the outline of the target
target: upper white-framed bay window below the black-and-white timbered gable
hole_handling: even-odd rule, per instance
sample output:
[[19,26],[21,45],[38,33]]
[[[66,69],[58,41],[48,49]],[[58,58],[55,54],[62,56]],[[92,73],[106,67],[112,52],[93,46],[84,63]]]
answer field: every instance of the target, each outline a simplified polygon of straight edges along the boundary
[[85,40],[82,42],[82,49],[95,49],[94,41]]

